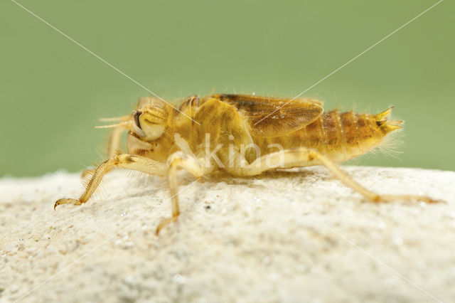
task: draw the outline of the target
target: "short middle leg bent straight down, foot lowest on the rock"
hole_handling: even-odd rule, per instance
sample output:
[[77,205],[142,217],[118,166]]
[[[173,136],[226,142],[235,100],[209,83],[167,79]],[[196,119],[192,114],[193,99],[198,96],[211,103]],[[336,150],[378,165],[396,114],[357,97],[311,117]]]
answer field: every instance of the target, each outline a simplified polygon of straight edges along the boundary
[[168,158],[168,183],[169,190],[171,191],[171,203],[172,203],[172,217],[167,218],[159,223],[156,228],[156,235],[159,231],[171,222],[174,222],[178,218],[180,210],[178,208],[178,183],[177,183],[177,171],[178,169],[186,169],[193,176],[201,177],[206,171],[205,168],[199,163],[195,156],[183,153],[182,151],[176,151],[171,154]]

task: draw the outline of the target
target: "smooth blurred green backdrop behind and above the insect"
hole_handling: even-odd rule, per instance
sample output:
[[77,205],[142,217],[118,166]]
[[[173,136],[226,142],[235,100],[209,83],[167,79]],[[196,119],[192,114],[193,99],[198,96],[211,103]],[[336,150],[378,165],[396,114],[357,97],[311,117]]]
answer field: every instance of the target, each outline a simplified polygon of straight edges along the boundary
[[[32,1],[20,4],[168,100],[210,92],[294,97],[436,1]],[[306,92],[405,119],[397,158],[357,165],[455,170],[455,6],[443,1]],[[0,2],[0,176],[103,159],[100,117],[146,90]]]

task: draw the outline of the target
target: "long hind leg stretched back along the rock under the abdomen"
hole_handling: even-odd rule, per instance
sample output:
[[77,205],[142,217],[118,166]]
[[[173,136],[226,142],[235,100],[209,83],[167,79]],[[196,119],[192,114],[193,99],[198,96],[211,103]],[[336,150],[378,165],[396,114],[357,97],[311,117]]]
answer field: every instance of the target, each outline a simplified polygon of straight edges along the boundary
[[277,151],[272,154],[267,154],[256,159],[251,164],[243,168],[238,168],[237,172],[244,176],[255,176],[268,169],[304,166],[310,161],[319,161],[319,163],[321,163],[323,166],[326,166],[326,168],[331,171],[332,174],[336,176],[336,178],[343,184],[374,202],[389,202],[395,200],[424,201],[427,203],[440,202],[427,196],[380,195],[378,193],[370,191],[354,181],[350,176],[348,176],[348,174],[346,174],[346,172],[340,169],[335,162],[331,161],[331,159],[328,159],[326,156],[319,153],[319,151],[315,151],[314,149],[307,149],[305,147],[301,147],[299,149]]

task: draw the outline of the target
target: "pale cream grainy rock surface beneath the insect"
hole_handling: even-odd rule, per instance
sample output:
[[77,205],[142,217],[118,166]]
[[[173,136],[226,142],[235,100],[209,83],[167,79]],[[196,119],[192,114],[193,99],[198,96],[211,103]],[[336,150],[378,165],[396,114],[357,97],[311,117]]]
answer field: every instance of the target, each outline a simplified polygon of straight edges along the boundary
[[90,205],[79,174],[0,179],[0,300],[11,302],[453,302],[455,172],[347,166],[371,203],[321,167],[256,179],[112,171]]

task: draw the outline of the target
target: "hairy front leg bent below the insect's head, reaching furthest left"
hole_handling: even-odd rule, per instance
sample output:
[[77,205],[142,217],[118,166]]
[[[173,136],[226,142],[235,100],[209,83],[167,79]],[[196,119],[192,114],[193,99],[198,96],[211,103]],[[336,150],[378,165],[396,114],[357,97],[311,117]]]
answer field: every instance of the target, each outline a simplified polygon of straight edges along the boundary
[[80,196],[79,199],[73,198],[63,198],[55,202],[55,207],[60,204],[74,204],[81,205],[86,203],[92,193],[95,192],[95,189],[100,184],[102,176],[107,174],[110,170],[114,168],[124,168],[124,169],[134,169],[136,171],[142,171],[147,174],[164,176],[166,175],[166,164],[159,161],[154,161],[151,159],[144,158],[143,156],[136,156],[132,154],[118,154],[117,156],[112,156],[112,158],[107,159],[102,162],[96,169],[92,178],[87,184],[84,193]]

